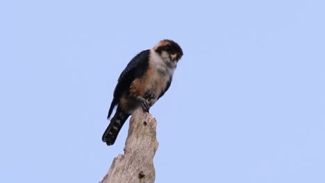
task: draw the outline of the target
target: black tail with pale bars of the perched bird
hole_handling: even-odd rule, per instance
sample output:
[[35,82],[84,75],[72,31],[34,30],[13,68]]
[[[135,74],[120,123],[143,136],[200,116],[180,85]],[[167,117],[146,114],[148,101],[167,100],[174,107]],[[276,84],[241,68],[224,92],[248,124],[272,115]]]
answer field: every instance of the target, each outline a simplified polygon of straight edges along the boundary
[[103,142],[106,142],[107,146],[113,145],[115,143],[117,135],[119,134],[119,130],[121,130],[126,119],[128,119],[128,116],[130,116],[130,114],[122,112],[119,110],[119,107],[117,107],[115,115],[110,120],[108,128],[106,128],[105,132],[103,133],[102,140]]

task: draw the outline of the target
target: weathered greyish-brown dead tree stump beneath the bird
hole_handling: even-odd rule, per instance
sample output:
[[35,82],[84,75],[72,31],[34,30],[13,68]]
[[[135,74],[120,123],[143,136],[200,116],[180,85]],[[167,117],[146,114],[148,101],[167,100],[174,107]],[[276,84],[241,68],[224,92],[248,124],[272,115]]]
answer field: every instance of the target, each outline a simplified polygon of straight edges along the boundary
[[151,114],[142,112],[141,107],[133,112],[124,155],[113,159],[110,170],[101,183],[155,182],[153,157],[158,148],[156,125],[156,119]]

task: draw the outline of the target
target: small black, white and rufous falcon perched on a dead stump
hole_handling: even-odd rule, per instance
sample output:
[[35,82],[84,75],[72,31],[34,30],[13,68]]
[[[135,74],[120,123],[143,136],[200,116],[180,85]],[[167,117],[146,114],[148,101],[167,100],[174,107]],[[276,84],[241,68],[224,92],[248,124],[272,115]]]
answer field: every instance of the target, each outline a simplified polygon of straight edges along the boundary
[[136,55],[122,71],[114,90],[107,119],[117,105],[115,115],[103,134],[103,141],[113,145],[119,130],[137,107],[145,112],[165,94],[172,82],[178,60],[183,56],[181,46],[172,40],[162,40]]

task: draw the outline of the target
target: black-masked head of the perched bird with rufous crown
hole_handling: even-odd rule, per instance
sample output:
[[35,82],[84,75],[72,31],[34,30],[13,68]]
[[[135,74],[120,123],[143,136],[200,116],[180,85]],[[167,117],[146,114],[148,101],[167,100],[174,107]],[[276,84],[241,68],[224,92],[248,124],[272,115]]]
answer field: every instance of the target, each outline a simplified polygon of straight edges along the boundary
[[153,47],[153,50],[164,58],[164,60],[174,62],[174,64],[176,64],[178,60],[181,60],[183,56],[181,46],[172,40],[161,40]]

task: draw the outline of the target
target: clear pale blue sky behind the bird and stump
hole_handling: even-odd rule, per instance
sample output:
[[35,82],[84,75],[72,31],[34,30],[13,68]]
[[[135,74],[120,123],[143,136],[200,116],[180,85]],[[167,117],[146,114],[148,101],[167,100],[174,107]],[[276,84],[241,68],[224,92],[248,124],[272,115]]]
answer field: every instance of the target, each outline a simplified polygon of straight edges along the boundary
[[324,1],[1,1],[0,182],[99,182],[119,73],[183,48],[156,182],[325,182]]

